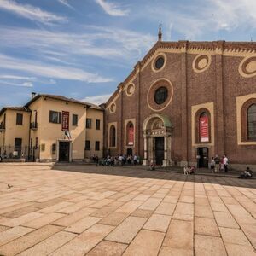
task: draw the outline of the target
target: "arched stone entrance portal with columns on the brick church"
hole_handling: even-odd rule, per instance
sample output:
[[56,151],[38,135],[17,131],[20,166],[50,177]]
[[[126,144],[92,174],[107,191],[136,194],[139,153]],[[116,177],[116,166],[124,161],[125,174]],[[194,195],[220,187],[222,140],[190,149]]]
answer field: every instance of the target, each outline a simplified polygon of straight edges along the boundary
[[172,123],[169,118],[157,113],[148,116],[143,123],[143,137],[143,165],[154,160],[157,165],[172,166]]

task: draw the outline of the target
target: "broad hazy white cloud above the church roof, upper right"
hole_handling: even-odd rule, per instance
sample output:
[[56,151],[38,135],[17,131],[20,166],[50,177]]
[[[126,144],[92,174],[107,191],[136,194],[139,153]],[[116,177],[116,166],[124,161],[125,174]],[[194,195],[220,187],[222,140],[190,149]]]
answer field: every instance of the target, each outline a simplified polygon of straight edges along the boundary
[[[157,3],[157,4],[156,4]],[[255,0],[195,0],[178,6],[170,1],[145,5],[135,12],[137,19],[162,22],[163,37],[170,40],[170,29],[180,39],[212,38],[212,32],[248,32],[256,27]],[[170,25],[171,24],[171,25]],[[249,39],[250,34],[248,34]],[[181,38],[183,37],[183,38]],[[216,38],[220,39],[220,38]]]

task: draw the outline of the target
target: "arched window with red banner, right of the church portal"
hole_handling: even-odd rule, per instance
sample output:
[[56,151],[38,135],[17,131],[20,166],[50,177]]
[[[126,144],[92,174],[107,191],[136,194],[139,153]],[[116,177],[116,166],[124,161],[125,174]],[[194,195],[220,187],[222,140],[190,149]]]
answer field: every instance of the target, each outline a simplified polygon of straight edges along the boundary
[[206,108],[195,113],[196,143],[211,143],[211,114]]

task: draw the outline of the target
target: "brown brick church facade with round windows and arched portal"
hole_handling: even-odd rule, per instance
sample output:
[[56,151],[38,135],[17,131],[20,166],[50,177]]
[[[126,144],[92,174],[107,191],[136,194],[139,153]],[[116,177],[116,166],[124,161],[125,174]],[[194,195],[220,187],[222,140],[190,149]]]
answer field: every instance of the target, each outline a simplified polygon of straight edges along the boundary
[[105,106],[105,154],[143,164],[256,170],[256,43],[163,42],[138,61]]

